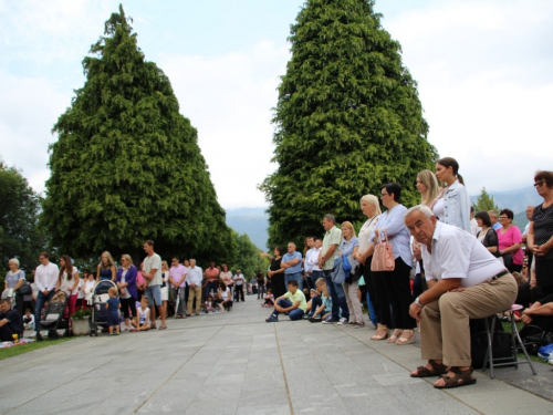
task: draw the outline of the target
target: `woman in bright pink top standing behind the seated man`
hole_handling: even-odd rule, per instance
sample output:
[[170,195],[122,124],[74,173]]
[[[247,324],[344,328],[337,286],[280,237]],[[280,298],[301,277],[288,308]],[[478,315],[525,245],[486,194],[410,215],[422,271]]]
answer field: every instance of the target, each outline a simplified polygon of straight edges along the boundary
[[[505,267],[511,272],[521,272],[524,255],[522,253],[522,235],[520,229],[512,225],[514,214],[510,209],[503,209],[499,212],[498,229],[499,253],[503,258]],[[512,257],[512,260],[511,260]]]

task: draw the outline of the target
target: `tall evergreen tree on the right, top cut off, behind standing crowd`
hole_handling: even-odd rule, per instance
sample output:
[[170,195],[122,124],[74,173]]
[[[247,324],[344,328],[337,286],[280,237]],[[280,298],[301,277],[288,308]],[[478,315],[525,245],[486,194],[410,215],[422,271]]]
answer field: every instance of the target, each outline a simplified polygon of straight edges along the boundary
[[437,158],[400,45],[368,0],[310,0],[292,25],[292,59],[279,87],[273,160],[260,188],[270,203],[269,245],[322,235],[321,220],[362,221],[359,199],[404,186]]

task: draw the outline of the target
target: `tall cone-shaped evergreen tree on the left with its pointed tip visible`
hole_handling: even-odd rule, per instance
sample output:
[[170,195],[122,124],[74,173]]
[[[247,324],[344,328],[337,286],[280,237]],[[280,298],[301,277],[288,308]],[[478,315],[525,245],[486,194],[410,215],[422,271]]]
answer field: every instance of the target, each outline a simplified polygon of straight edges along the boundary
[[44,222],[75,256],[156,250],[198,260],[232,256],[197,132],[169,80],[137,48],[123,7],[83,60],[84,86],[53,131]]

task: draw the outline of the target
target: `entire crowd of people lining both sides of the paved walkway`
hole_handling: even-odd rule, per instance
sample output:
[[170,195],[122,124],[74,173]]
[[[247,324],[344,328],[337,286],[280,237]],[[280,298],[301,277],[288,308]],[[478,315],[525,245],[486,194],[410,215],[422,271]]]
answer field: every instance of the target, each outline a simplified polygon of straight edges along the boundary
[[[285,314],[290,320],[356,329],[367,324],[375,330],[371,340],[395,345],[414,343],[419,330],[427,363],[410,375],[439,376],[438,388],[473,384],[469,319],[503,312],[517,301],[524,307],[520,319],[525,324],[553,331],[553,172],[534,176],[543,203],[528,207],[530,222],[523,232],[508,208],[499,216],[493,210],[473,211],[453,158],[439,159],[435,172],[420,172],[416,184],[420,204],[410,208],[401,204],[398,183],[380,186],[378,197],[363,196],[359,207],[366,221],[358,237],[352,222],[342,221],[338,228],[336,218],[325,215],[322,238],[307,237],[303,252],[292,241],[285,252],[275,247],[267,276],[259,271],[250,283],[258,288],[262,305],[272,308],[267,322]],[[176,300],[176,319],[197,315],[201,308],[208,313],[231,311],[234,301],[244,300],[248,281],[240,270],[232,274],[227,264],[215,262],[202,270],[196,260],[181,262],[177,257],[168,266],[150,240],[144,250],[138,268],[128,255],[117,268],[103,252],[95,276],[84,271],[83,280],[69,256],[58,267],[42,252],[34,273],[36,338],[41,310],[55,291],[71,295],[72,313],[79,299],[83,307],[90,302],[101,280],[117,287],[111,297],[118,301],[109,310],[122,311],[121,330],[155,329],[156,315],[158,329],[166,329],[169,299]],[[13,290],[21,315],[25,299],[18,291],[24,272],[17,259],[9,264],[6,288]],[[2,338],[13,314],[4,310],[0,318]]]

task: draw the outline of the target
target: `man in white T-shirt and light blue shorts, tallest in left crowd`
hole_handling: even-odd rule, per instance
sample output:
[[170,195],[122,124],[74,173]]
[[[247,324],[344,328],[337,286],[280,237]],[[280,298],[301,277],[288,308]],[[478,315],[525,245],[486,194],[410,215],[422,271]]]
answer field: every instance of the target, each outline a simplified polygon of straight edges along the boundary
[[156,328],[156,305],[159,315],[161,317],[161,325],[159,330],[167,329],[165,323],[165,305],[161,301],[161,257],[154,252],[154,241],[147,240],[144,242],[144,251],[147,257],[144,259],[144,269],[142,276],[146,281],[146,290],[144,295],[149,300],[152,312],[152,329]]

